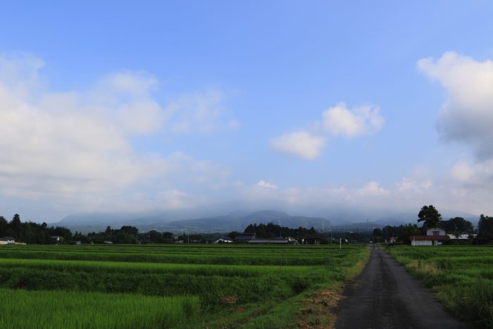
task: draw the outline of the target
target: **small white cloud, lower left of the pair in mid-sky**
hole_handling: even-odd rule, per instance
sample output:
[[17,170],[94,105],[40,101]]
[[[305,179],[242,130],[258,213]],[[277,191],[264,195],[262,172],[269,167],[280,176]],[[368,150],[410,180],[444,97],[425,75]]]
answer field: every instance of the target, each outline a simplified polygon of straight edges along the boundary
[[279,153],[302,159],[316,159],[325,145],[325,138],[308,132],[292,132],[270,140],[270,147]]

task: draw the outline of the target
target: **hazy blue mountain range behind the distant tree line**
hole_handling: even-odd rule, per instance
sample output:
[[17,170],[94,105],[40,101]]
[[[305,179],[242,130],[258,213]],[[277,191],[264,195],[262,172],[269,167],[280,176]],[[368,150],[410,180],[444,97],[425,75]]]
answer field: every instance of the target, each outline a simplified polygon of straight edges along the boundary
[[[98,232],[108,225],[120,228],[123,225],[136,226],[142,232],[155,229],[161,232],[242,232],[252,223],[275,223],[289,228],[316,228],[316,230],[358,231],[372,230],[385,225],[416,223],[416,213],[397,213],[390,211],[354,211],[351,209],[331,209],[323,211],[324,216],[290,215],[275,210],[237,210],[234,203],[213,204],[195,209],[180,211],[154,211],[146,213],[80,213],[66,216],[58,223],[73,231]],[[442,212],[448,219],[462,216],[476,225],[478,216],[468,213]]]

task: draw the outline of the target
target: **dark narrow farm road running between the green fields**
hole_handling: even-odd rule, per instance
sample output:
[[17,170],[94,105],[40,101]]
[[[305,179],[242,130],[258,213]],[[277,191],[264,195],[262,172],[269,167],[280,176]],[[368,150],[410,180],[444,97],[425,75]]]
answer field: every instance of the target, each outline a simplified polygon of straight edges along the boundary
[[336,329],[472,328],[450,316],[430,289],[389,254],[373,247],[363,273],[344,288]]

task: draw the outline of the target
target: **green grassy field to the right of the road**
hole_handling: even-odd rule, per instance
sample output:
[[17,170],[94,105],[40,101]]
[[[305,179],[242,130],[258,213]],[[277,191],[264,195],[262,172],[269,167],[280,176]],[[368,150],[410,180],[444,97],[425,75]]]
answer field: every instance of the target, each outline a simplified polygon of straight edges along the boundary
[[493,328],[493,247],[389,247],[387,251],[458,318]]

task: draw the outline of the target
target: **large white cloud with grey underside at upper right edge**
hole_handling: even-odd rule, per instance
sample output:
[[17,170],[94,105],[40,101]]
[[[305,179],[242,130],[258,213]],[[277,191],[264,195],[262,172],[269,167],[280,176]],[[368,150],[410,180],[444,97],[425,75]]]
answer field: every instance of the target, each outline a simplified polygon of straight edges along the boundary
[[480,160],[493,157],[493,62],[447,52],[421,59],[418,69],[449,94],[437,121],[442,139],[468,144]]

